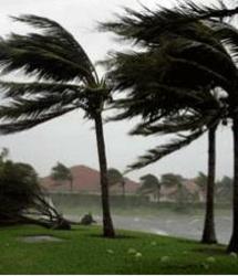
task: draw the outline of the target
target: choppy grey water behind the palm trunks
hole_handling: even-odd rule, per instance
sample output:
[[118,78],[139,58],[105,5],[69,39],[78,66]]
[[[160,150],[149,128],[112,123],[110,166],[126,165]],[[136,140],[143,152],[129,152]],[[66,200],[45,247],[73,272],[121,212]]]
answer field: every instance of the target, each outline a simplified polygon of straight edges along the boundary
[[[70,215],[71,220],[79,220],[79,216]],[[102,217],[96,215],[95,220],[101,223]],[[187,237],[200,240],[204,216],[203,215],[184,215],[170,214],[163,216],[134,216],[134,215],[113,215],[114,226],[116,229],[134,230],[155,233],[159,235]],[[231,217],[227,215],[217,215],[216,234],[218,242],[227,244],[231,234]]]

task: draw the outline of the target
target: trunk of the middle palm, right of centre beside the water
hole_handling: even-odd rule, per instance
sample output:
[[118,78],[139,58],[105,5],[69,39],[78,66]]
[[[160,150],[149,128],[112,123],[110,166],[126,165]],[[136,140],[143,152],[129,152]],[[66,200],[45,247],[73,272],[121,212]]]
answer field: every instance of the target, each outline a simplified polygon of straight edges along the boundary
[[206,193],[206,214],[204,233],[201,243],[214,244],[217,243],[215,222],[214,222],[214,188],[215,188],[215,171],[216,171],[216,129],[213,127],[208,132],[208,178],[207,178],[207,193]]

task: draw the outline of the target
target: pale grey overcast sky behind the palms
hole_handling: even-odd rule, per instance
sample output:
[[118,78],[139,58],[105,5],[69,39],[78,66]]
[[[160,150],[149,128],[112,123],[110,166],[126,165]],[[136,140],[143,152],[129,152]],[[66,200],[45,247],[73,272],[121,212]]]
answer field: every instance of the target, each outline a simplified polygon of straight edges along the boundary
[[[169,0],[141,0],[153,8],[156,3],[170,7]],[[123,50],[115,38],[108,33],[99,33],[97,22],[114,19],[122,7],[139,9],[135,0],[1,0],[0,35],[10,32],[29,31],[21,23],[12,22],[9,15],[25,13],[56,20],[70,31],[85,49],[93,63],[106,57],[113,50]],[[203,3],[208,2],[204,0]],[[32,30],[31,30],[32,31]],[[104,72],[100,70],[100,73]],[[145,150],[158,146],[170,137],[131,137],[130,129],[138,120],[111,123],[104,126],[108,168],[123,171],[126,164],[136,160]],[[10,149],[14,161],[31,163],[41,177],[48,176],[58,162],[65,166],[85,164],[99,169],[96,140],[92,121],[83,119],[82,112],[73,112],[61,118],[45,123],[33,129],[0,137],[0,148]],[[158,178],[166,172],[193,178],[198,171],[207,170],[207,136],[205,135],[187,148],[166,157],[142,170],[131,172],[130,178],[138,180],[141,176],[153,173]],[[220,127],[217,137],[217,178],[232,174],[232,136],[230,127]]]

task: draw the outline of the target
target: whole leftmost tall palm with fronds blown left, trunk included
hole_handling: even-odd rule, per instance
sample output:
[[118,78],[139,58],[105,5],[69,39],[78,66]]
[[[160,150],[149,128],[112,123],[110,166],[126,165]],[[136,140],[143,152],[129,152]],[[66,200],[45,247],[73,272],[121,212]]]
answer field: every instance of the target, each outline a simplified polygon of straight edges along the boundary
[[[101,170],[103,234],[114,237],[108,203],[108,183],[102,112],[111,88],[100,79],[80,43],[55,21],[37,15],[14,18],[43,33],[11,34],[0,41],[3,73],[21,70],[34,82],[1,82],[7,104],[0,107],[0,132],[30,129],[75,109],[95,124]],[[30,81],[30,79],[29,79]]]

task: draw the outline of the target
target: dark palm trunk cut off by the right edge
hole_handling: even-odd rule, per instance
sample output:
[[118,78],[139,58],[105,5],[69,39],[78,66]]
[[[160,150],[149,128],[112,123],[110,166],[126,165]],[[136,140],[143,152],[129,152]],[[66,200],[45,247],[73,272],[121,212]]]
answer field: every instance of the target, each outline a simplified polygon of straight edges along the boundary
[[229,245],[227,247],[228,252],[238,253],[238,116],[235,115],[234,118],[234,194],[232,194],[232,233]]

